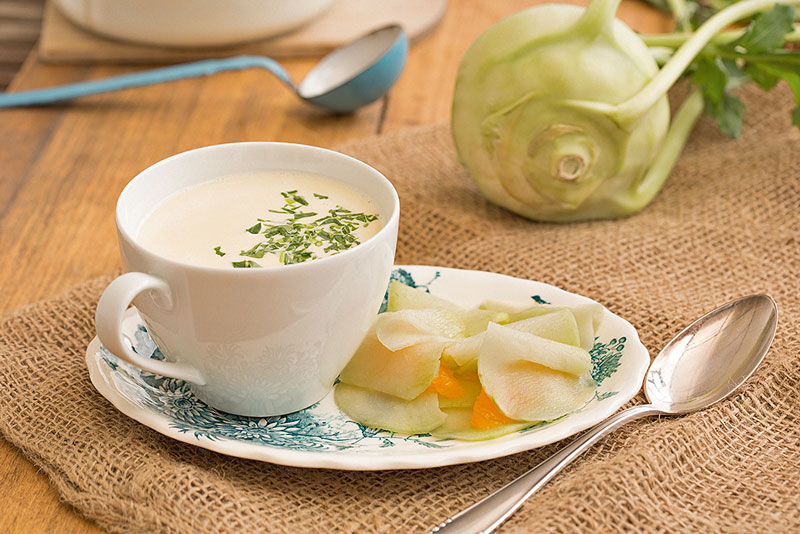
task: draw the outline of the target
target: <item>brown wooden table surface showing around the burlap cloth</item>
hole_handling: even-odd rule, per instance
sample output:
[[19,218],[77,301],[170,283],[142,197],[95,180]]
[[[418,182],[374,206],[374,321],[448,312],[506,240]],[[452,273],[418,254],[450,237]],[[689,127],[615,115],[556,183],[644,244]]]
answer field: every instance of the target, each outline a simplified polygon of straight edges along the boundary
[[[334,147],[348,139],[447,119],[466,48],[491,24],[530,3],[452,0],[441,25],[412,48],[391,94],[352,116],[311,109],[274,77],[256,70],[99,95],[70,105],[0,110],[0,313],[118,269],[115,199],[128,180],[160,159],[232,141]],[[623,4],[620,16],[640,31],[670,26],[634,0]],[[297,59],[285,65],[300,79],[314,63]],[[44,65],[32,52],[9,90],[131,70]],[[0,532],[101,532],[61,503],[36,467],[2,439],[0,503]]]

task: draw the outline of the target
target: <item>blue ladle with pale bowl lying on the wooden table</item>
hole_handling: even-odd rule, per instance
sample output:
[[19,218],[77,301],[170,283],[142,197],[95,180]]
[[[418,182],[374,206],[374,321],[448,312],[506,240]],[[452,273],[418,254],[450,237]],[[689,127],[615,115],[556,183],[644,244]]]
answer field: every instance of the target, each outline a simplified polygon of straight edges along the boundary
[[0,108],[39,106],[81,96],[141,87],[228,70],[263,68],[272,72],[301,99],[337,113],[349,113],[374,102],[394,85],[408,55],[408,37],[400,26],[386,26],[337,48],[313,68],[300,84],[277,61],[261,56],[238,56],[183,63],[79,82],[47,89],[0,94]]

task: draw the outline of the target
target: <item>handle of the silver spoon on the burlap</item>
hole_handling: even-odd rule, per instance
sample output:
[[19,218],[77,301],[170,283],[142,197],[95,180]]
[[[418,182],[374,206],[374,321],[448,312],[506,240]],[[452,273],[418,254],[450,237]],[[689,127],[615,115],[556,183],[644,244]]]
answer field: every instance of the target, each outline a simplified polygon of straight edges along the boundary
[[433,527],[427,534],[489,534],[493,532],[531,495],[600,439],[630,421],[659,413],[663,412],[654,406],[645,404],[632,406],[609,417],[527,473]]

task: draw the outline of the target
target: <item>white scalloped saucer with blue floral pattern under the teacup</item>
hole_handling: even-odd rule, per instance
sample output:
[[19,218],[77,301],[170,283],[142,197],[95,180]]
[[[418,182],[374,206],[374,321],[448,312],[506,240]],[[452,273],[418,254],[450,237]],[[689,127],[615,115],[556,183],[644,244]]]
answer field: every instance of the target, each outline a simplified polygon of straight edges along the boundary
[[[520,304],[545,301],[590,302],[541,282],[481,271],[398,266],[392,279],[429,290],[465,307],[491,298]],[[300,412],[276,417],[241,417],[219,412],[198,400],[181,380],[132,367],[108,353],[97,338],[86,351],[95,388],[125,415],[171,438],[231,456],[296,467],[347,470],[416,469],[476,462],[540,447],[605,419],[630,400],[650,363],[647,349],[630,323],[604,311],[591,351],[595,398],[582,409],[488,441],[402,436],[364,427],[345,416],[329,394]],[[134,350],[162,358],[134,308],[124,330]]]

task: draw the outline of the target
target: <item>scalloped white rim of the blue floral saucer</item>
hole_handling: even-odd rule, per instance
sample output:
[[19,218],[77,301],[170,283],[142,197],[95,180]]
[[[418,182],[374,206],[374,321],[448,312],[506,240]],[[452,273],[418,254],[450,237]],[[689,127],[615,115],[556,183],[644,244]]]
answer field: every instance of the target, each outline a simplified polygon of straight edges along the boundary
[[[571,293],[559,287],[539,282],[516,278],[509,275],[494,273],[489,271],[456,269],[450,267],[439,267],[429,265],[395,265],[394,269],[404,269],[406,271],[429,271],[453,274],[457,276],[478,276],[481,278],[492,278],[502,280],[509,284],[529,284],[528,292],[538,292],[546,289],[548,293],[563,297],[565,300],[577,302],[595,302],[592,299]],[[538,286],[538,288],[537,288]],[[435,293],[435,292],[434,292]],[[447,295],[446,298],[454,299]],[[490,298],[485,296],[484,298]],[[557,303],[558,304],[558,303]],[[633,398],[639,392],[644,380],[645,373],[650,364],[650,356],[647,349],[639,340],[636,329],[625,319],[611,313],[603,307],[604,325],[607,328],[608,320],[611,318],[615,327],[623,330],[626,337],[625,358],[626,364],[631,366],[629,373],[634,375],[635,380],[631,379],[624,382],[616,394],[597,408],[592,410],[592,417],[580,417],[583,410],[564,416],[556,422],[543,427],[548,432],[529,432],[527,434],[513,433],[500,438],[476,442],[454,442],[459,446],[456,448],[426,449],[424,453],[391,454],[387,449],[383,449],[383,455],[364,455],[363,450],[353,451],[324,451],[309,452],[298,451],[288,448],[249,443],[241,440],[209,439],[204,436],[194,436],[190,432],[181,432],[170,426],[170,420],[153,409],[147,409],[134,404],[122,395],[106,376],[107,367],[101,368],[99,365],[99,355],[101,355],[101,344],[97,337],[94,337],[86,350],[86,364],[89,375],[95,389],[105,397],[111,404],[124,415],[150,427],[151,429],[177,441],[199,446],[215,452],[251,460],[265,461],[278,465],[307,468],[325,468],[349,471],[376,471],[391,469],[420,469],[442,467],[447,465],[471,463],[483,460],[500,458],[511,454],[517,454],[534,448],[538,448],[562,439],[568,438],[582,430],[590,428],[607,417],[613,415],[622,405]],[[128,313],[136,313],[135,308],[128,310]],[[329,396],[332,392],[329,393]]]

